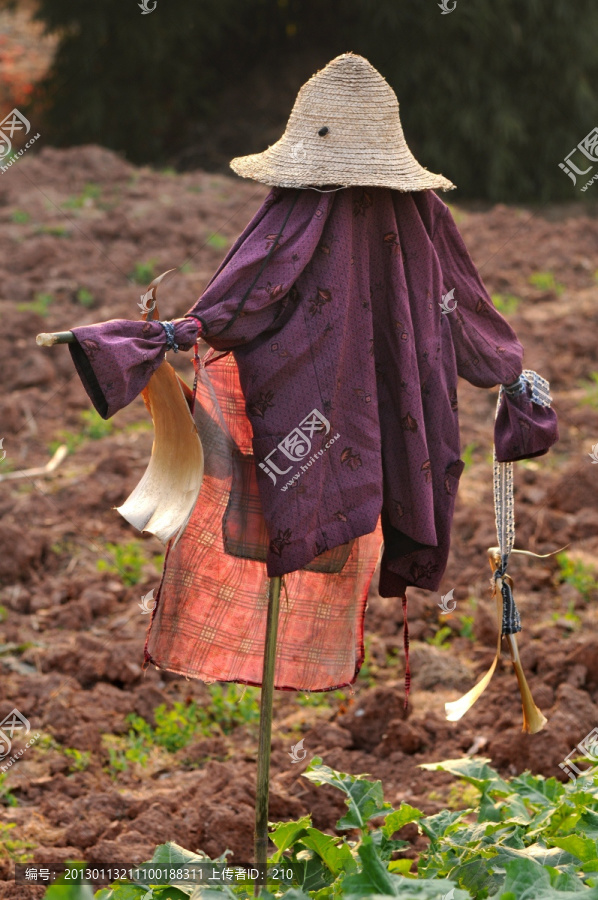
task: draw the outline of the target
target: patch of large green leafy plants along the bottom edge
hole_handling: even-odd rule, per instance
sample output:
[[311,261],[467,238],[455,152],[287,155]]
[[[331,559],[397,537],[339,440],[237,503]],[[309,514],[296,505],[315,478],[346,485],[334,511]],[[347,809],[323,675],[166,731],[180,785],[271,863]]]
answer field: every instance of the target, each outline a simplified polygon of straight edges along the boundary
[[[336,824],[340,835],[313,827],[311,816],[275,823],[269,863],[281,871],[261,896],[287,900],[596,900],[598,897],[598,774],[562,784],[524,772],[505,780],[489,760],[473,757],[422,766],[460,779],[455,802],[432,816],[403,803],[392,809],[380,781],[348,775],[316,757],[304,777],[342,792],[346,812]],[[593,770],[592,770],[593,771]],[[415,824],[428,840],[415,863],[402,856],[409,844],[394,838]],[[213,862],[224,862],[226,851]],[[201,851],[162,844],[144,866],[170,870],[208,862]],[[234,865],[234,863],[229,863]],[[292,873],[292,877],[289,873]],[[153,884],[143,877],[118,882],[96,900],[153,900],[212,897],[223,894],[249,900],[242,883],[196,885],[181,878]],[[52,900],[49,893],[46,900]],[[58,900],[58,898],[57,898]]]

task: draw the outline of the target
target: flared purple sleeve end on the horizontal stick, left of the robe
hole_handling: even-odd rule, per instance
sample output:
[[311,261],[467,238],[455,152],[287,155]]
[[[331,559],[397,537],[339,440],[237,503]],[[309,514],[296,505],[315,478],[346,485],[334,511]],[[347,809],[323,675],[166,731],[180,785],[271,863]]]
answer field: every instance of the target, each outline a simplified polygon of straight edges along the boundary
[[[174,319],[175,342],[190,350],[199,323]],[[103,419],[127,406],[144,389],[166,353],[166,333],[159,322],[111,319],[73,328],[69,344],[75,368],[91,402]]]

